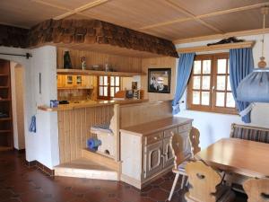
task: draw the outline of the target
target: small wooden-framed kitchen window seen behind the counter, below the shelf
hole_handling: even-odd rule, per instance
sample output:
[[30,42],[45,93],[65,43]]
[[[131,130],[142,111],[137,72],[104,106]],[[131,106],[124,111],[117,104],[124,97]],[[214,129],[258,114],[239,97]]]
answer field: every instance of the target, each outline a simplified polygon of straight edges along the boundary
[[98,99],[111,100],[116,92],[120,90],[119,76],[98,76]]

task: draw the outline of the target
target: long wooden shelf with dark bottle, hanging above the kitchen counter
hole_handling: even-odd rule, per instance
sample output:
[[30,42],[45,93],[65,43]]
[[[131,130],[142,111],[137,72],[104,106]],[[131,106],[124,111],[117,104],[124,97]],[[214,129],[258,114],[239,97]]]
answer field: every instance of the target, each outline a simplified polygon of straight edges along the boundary
[[118,75],[132,77],[134,75],[145,75],[144,73],[134,73],[134,72],[105,72],[96,70],[82,70],[82,69],[57,69],[58,75]]

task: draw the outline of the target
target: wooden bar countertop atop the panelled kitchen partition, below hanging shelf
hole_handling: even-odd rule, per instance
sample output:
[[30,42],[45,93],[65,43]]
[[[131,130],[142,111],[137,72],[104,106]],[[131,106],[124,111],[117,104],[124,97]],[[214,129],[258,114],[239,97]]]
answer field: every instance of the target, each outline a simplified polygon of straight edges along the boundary
[[39,110],[45,110],[45,111],[58,111],[58,110],[75,110],[75,109],[81,109],[81,108],[91,108],[91,107],[100,107],[100,106],[108,106],[108,105],[114,105],[114,104],[132,104],[132,103],[141,103],[149,101],[147,99],[142,100],[116,100],[116,101],[79,101],[76,103],[75,101],[71,101],[69,104],[60,104],[56,108],[50,108],[46,105],[39,106]]

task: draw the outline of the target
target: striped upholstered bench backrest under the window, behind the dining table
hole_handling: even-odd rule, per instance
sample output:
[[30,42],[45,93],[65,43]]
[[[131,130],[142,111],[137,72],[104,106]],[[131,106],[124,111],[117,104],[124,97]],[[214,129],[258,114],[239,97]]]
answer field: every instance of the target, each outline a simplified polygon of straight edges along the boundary
[[232,124],[230,137],[269,143],[269,128]]

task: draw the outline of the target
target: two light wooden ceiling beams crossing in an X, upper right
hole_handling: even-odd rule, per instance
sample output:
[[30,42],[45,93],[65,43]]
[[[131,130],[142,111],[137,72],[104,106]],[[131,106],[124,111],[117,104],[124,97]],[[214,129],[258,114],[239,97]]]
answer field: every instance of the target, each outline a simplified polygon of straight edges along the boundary
[[204,22],[202,19],[207,18],[207,17],[221,15],[221,14],[228,14],[228,13],[236,13],[236,12],[247,11],[247,10],[260,8],[260,7],[269,5],[269,3],[251,4],[251,5],[242,6],[242,7],[238,7],[238,8],[232,8],[232,9],[228,9],[228,10],[223,10],[223,11],[220,11],[220,12],[206,13],[206,14],[201,14],[201,15],[194,15],[193,13],[188,12],[186,9],[181,8],[178,4],[175,4],[175,3],[171,2],[170,0],[165,0],[165,2],[167,2],[168,4],[173,6],[174,8],[178,9],[179,12],[187,14],[188,17],[187,18],[179,18],[179,19],[176,19],[176,20],[173,20],[173,21],[160,22],[160,23],[155,23],[155,24],[152,24],[152,25],[144,26],[144,27],[141,27],[139,29],[139,31],[151,30],[152,28],[157,28],[157,27],[166,26],[166,25],[179,23],[179,22],[196,21],[196,22],[204,23],[205,26],[208,26],[210,29],[212,29],[214,31],[218,31],[219,33],[223,33],[223,31],[215,28],[213,25],[211,25],[211,24],[209,24],[207,22]]

